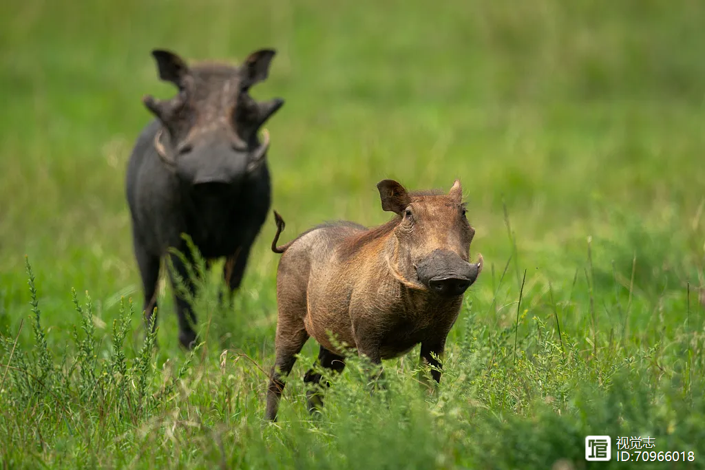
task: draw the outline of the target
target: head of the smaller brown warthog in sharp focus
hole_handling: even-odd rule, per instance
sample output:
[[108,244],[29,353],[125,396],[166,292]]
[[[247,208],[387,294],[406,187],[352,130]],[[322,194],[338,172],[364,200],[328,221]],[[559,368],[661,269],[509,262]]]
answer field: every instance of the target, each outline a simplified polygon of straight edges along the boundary
[[398,270],[407,280],[443,297],[462,295],[482,271],[482,255],[469,262],[474,229],[465,217],[462,188],[448,194],[412,192],[393,180],[377,185],[382,209],[398,214],[394,228]]

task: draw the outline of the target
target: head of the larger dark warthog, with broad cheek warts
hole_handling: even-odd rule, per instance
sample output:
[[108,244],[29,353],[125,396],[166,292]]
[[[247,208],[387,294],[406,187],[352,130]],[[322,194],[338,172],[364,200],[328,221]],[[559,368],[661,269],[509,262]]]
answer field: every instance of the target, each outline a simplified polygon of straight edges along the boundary
[[190,67],[171,51],[152,51],[159,78],[178,87],[171,99],[143,99],[166,129],[157,132],[154,145],[164,163],[196,192],[221,192],[264,162],[269,135],[265,130],[260,142],[257,131],[284,101],[258,102],[248,90],[267,78],[274,54],[256,51],[240,67]]

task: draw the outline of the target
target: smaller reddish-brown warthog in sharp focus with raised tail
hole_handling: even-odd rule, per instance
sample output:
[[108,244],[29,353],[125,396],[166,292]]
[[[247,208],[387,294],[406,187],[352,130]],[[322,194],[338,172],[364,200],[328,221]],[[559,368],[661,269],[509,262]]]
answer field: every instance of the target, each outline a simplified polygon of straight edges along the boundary
[[[482,271],[482,255],[477,264],[468,261],[474,229],[465,218],[460,181],[448,194],[410,193],[393,180],[381,181],[377,189],[382,209],[396,217],[369,230],[353,222],[325,223],[277,247],[284,221],[274,213],[272,250],[283,256],[267,419],[276,419],[283,378],[309,336],[321,345],[321,366],[337,372],[344,358],[329,331],[373,364],[420,342],[422,360],[441,365],[434,356],[443,354],[462,294]],[[441,380],[439,371],[431,375]],[[321,376],[312,369],[304,381],[318,385]],[[319,398],[312,390],[308,398],[313,410]]]

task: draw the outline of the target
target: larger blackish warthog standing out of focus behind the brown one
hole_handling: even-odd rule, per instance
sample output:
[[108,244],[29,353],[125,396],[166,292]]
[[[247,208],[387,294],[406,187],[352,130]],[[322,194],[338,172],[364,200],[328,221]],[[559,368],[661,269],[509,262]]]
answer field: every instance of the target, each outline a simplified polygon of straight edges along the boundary
[[[240,67],[188,66],[170,51],[152,51],[159,78],[176,85],[178,94],[143,99],[156,119],[138,137],[128,165],[127,199],[148,316],[157,307],[161,256],[170,247],[188,255],[183,233],[206,259],[227,256],[226,283],[231,290],[240,285],[271,197],[269,135],[264,130],[260,142],[257,131],[283,104],[278,98],[257,102],[248,90],[267,78],[274,54],[256,51]],[[170,256],[193,292],[186,266]],[[180,296],[176,309],[179,340],[190,347],[195,317]]]

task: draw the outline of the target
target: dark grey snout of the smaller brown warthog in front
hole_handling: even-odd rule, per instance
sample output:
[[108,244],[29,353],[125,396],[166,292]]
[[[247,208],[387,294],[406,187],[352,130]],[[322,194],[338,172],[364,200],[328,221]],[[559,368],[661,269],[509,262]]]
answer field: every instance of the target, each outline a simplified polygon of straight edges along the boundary
[[468,263],[449,250],[435,249],[417,264],[419,280],[443,297],[462,295],[482,271],[482,255],[477,263]]

